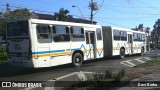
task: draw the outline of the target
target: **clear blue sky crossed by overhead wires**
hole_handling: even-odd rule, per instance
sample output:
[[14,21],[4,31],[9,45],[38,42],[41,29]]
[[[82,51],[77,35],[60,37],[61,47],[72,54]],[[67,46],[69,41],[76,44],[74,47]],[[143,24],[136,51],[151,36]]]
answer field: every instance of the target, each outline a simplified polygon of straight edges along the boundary
[[[68,9],[73,17],[90,19],[91,0],[0,0],[0,11],[5,11],[6,3],[12,10],[29,8],[31,12],[54,14],[60,8]],[[160,16],[160,0],[93,0],[99,5],[93,20],[98,25],[135,28],[139,24],[153,29]],[[72,7],[73,5],[79,7]],[[83,16],[81,15],[80,11]]]

